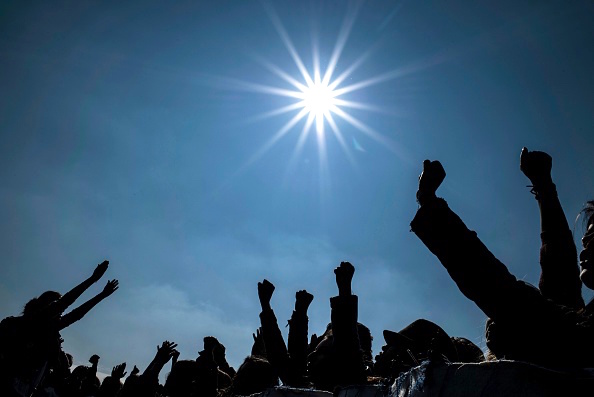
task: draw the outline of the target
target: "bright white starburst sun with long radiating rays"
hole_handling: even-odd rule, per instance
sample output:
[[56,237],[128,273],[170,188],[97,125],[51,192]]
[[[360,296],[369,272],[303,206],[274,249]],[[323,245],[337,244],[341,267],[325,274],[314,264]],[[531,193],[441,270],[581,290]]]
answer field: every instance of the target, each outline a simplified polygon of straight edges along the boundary
[[[392,70],[383,73],[378,76],[370,77],[366,80],[362,80],[349,85],[342,85],[352,73],[357,70],[361,64],[370,55],[370,51],[363,53],[358,59],[355,60],[344,70],[335,75],[338,60],[342,54],[350,31],[356,19],[357,8],[351,9],[350,12],[345,16],[343,25],[338,33],[338,38],[334,46],[334,50],[329,58],[328,65],[324,70],[320,67],[320,56],[316,45],[313,47],[313,68],[308,69],[299,53],[295,49],[293,42],[291,41],[288,33],[283,27],[278,15],[274,12],[271,7],[265,6],[268,15],[276,28],[281,40],[285,44],[285,47],[289,51],[291,58],[293,59],[295,66],[299,70],[300,78],[291,75],[289,72],[279,68],[278,66],[264,60],[257,59],[266,69],[280,77],[289,86],[288,87],[275,87],[257,83],[249,83],[245,81],[234,82],[238,84],[239,89],[246,89],[249,91],[260,92],[265,94],[277,95],[289,99],[293,99],[294,102],[282,106],[278,109],[271,110],[264,114],[258,115],[255,119],[265,119],[274,116],[287,114],[290,112],[297,112],[294,114],[264,145],[261,147],[253,156],[248,160],[247,165],[256,161],[264,153],[270,150],[283,136],[289,131],[293,130],[297,125],[305,120],[301,128],[301,133],[295,146],[293,153],[293,159],[297,158],[301,152],[304,143],[313,129],[315,123],[315,131],[318,142],[318,151],[320,156],[320,165],[324,167],[326,162],[326,139],[328,138],[325,133],[325,126],[329,127],[332,135],[336,138],[344,153],[347,155],[349,160],[354,164],[351,150],[364,152],[365,149],[359,144],[352,135],[352,138],[345,139],[343,133],[339,128],[337,120],[340,119],[346,122],[351,127],[355,128],[359,132],[362,132],[365,136],[373,139],[376,142],[381,143],[388,149],[399,152],[399,149],[395,147],[394,143],[375,131],[373,128],[366,125],[364,122],[357,119],[355,116],[350,114],[346,109],[357,109],[372,112],[384,112],[376,106],[353,101],[346,99],[344,94],[352,93],[366,87],[377,85],[388,80],[397,78],[403,74],[402,70]],[[340,97],[340,98],[339,98]],[[349,142],[350,141],[350,142]]]

